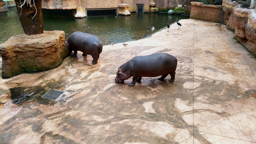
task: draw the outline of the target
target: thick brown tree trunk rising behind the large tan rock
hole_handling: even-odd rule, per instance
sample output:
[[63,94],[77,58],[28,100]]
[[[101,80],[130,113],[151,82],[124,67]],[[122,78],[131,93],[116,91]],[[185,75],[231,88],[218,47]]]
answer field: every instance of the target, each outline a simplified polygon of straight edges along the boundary
[[[35,1],[35,4],[34,4]],[[25,2],[25,3],[24,3]],[[44,20],[42,0],[31,0],[31,7],[25,0],[15,0],[20,21],[26,35],[43,34]],[[24,4],[24,5],[23,5]],[[22,7],[20,7],[23,5]],[[33,18],[34,17],[34,18]]]

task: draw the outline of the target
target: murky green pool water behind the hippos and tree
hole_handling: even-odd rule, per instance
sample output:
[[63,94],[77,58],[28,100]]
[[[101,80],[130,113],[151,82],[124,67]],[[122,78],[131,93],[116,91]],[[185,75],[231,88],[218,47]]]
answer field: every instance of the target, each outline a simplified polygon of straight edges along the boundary
[[[10,11],[17,12],[16,7]],[[11,12],[0,12],[0,43],[4,43],[11,36],[24,34],[18,19],[10,20],[7,15]],[[103,45],[138,40],[155,33],[174,23],[176,20],[188,19],[187,15],[168,15],[167,13],[131,13],[131,16],[118,15],[87,17],[75,19],[65,16],[44,15],[44,30],[62,30],[66,37],[75,31],[89,33],[102,41]],[[152,27],[154,30],[152,31]]]

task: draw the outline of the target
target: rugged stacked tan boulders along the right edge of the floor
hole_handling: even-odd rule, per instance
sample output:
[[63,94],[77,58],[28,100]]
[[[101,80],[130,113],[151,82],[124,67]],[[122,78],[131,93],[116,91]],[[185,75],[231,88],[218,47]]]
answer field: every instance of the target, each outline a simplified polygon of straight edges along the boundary
[[231,0],[223,0],[222,7],[227,28],[234,31],[234,38],[256,56],[256,10]]

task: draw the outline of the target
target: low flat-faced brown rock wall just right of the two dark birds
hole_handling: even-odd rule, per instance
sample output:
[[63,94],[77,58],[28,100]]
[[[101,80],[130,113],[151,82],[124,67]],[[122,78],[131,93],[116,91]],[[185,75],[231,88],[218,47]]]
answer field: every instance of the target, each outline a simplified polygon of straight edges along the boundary
[[224,12],[221,5],[206,5],[203,2],[191,2],[190,18],[203,21],[224,23]]

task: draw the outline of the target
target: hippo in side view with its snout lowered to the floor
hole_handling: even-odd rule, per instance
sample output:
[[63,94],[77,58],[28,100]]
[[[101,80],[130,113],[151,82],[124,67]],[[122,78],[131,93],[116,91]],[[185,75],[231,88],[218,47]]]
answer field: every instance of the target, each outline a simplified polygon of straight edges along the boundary
[[129,86],[134,86],[136,82],[140,82],[142,77],[156,77],[159,81],[170,74],[171,79],[169,82],[174,82],[175,70],[177,67],[177,59],[167,53],[157,53],[147,56],[134,57],[132,60],[127,61],[116,72],[116,83],[123,83],[133,76],[133,82]]

